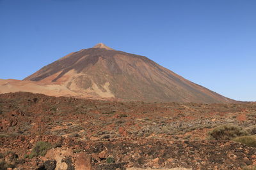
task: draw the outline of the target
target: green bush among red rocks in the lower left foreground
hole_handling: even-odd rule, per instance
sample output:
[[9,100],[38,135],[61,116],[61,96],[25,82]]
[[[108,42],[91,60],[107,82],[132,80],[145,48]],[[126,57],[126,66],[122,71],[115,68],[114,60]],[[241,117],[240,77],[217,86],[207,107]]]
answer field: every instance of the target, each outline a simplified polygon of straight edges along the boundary
[[52,145],[51,143],[47,143],[44,141],[38,141],[33,148],[32,152],[29,154],[29,158],[37,157],[37,156],[42,156],[46,154],[47,150],[51,149]]

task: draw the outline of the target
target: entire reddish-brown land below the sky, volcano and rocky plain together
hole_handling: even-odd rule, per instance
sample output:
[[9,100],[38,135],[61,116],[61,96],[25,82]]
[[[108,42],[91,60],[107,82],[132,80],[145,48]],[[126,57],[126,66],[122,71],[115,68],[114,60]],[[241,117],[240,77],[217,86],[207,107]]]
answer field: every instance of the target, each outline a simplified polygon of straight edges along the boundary
[[100,43],[0,80],[0,170],[244,169],[255,120],[256,103]]

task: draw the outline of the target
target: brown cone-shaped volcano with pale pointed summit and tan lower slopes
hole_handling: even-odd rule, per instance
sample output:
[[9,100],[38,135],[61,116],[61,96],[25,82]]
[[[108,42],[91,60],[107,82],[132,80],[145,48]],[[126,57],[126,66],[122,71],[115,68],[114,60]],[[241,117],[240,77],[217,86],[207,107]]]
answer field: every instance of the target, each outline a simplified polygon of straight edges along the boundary
[[16,82],[16,85],[13,81],[3,81],[0,90],[10,92],[13,90],[3,89],[19,89],[29,84],[30,87],[25,88],[25,91],[52,96],[110,97],[133,101],[234,102],[182,78],[147,57],[113,50],[102,43],[70,53]]

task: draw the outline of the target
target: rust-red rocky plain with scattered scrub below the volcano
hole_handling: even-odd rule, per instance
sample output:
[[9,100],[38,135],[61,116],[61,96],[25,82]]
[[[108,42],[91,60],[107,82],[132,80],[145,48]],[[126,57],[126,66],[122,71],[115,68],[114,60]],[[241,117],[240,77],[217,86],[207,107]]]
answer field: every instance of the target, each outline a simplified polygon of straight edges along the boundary
[[[256,164],[256,148],[208,134],[225,124],[256,134],[255,103],[118,102],[16,92],[0,95],[0,114],[2,169],[242,169]],[[51,145],[46,154],[35,155],[38,142]]]

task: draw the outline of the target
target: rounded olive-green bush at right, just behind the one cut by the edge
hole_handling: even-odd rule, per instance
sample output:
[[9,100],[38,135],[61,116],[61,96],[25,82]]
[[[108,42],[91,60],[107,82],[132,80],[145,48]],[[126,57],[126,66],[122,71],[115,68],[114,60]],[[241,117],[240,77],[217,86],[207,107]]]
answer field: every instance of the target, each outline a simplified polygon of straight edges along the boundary
[[236,125],[222,125],[209,132],[210,138],[216,140],[230,140],[238,136],[247,135],[249,135],[248,132],[244,131],[241,127]]

